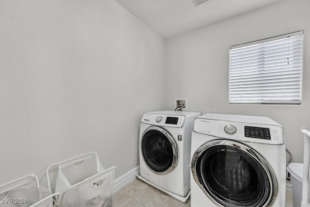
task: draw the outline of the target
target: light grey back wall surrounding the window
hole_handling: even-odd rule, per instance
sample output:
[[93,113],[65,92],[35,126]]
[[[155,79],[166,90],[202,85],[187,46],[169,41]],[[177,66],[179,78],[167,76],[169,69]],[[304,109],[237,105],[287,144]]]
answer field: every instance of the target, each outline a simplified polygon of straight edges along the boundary
[[[167,41],[166,108],[187,98],[188,111],[268,116],[284,128],[287,148],[302,162],[300,127],[310,126],[310,1],[285,0]],[[300,105],[229,105],[229,48],[304,31],[303,96]]]

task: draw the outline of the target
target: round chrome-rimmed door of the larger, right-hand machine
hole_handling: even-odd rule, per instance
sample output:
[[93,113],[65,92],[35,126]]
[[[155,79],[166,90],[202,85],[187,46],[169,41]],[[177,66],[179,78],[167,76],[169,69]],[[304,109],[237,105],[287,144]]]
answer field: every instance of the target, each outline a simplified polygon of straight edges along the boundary
[[216,205],[271,206],[278,182],[269,163],[248,145],[231,140],[203,144],[193,155],[194,180]]

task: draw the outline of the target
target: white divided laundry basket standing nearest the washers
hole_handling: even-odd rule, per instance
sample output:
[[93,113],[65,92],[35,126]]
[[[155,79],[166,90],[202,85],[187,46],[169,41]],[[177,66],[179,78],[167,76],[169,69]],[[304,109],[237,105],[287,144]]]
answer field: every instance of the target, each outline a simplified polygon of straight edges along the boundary
[[47,184],[59,192],[58,207],[112,207],[116,167],[105,170],[95,152],[47,168]]

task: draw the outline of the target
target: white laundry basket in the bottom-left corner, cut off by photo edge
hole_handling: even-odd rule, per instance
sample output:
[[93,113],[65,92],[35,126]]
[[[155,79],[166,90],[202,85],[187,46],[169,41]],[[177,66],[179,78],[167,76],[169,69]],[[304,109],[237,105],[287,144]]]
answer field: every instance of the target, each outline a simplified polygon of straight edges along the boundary
[[31,174],[0,186],[0,207],[53,207],[52,197],[58,196],[40,187],[37,176]]

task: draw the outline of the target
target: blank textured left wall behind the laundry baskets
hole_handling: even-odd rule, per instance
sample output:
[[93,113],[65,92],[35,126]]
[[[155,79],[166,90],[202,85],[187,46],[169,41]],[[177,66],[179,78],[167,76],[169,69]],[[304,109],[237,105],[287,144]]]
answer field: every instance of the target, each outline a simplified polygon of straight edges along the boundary
[[163,110],[165,41],[115,1],[0,1],[0,183],[95,151],[139,165],[140,118]]

